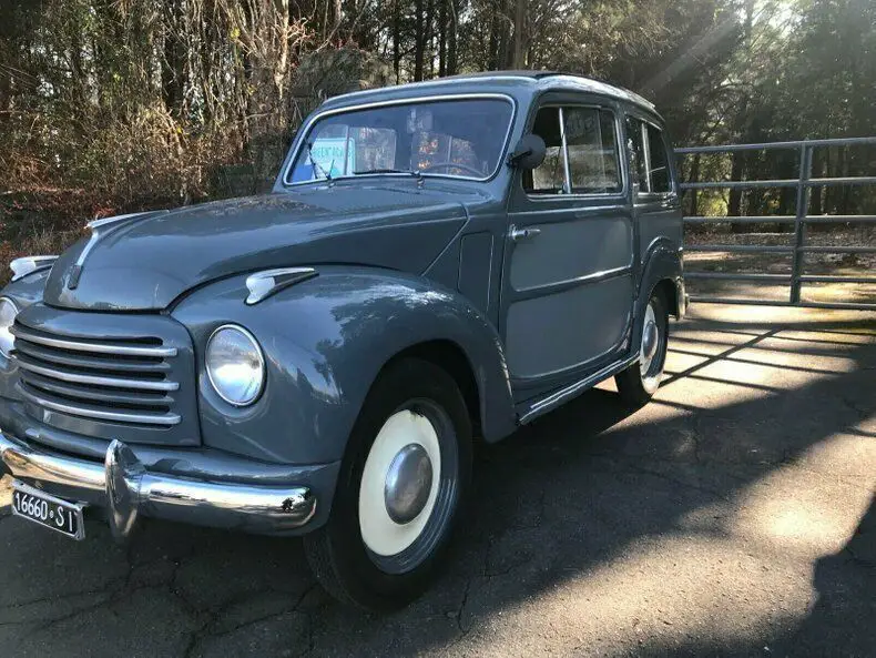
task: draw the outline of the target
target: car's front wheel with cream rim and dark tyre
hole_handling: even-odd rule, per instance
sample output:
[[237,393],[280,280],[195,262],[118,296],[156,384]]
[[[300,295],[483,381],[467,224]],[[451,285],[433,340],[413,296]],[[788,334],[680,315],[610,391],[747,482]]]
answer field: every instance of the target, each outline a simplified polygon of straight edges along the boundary
[[342,601],[391,609],[440,566],[471,478],[471,423],[459,387],[415,358],[375,383],[349,437],[328,523],[304,538]]

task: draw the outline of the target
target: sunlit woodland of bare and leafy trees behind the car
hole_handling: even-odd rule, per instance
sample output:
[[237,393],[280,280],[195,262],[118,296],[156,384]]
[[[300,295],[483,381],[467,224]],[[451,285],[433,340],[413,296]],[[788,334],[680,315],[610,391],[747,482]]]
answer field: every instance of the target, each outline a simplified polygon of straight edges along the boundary
[[[302,118],[350,89],[552,69],[638,91],[676,145],[876,134],[873,0],[0,0],[0,260],[84,220],[269,188]],[[685,159],[689,179],[795,178],[797,154]],[[876,171],[816,150],[814,175]],[[692,214],[793,214],[793,190]],[[811,212],[874,212],[869,188]]]

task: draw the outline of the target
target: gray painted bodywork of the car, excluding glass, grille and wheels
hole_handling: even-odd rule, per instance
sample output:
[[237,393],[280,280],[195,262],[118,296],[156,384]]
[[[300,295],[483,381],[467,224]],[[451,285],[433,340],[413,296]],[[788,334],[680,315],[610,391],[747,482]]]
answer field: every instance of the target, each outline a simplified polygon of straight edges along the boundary
[[[361,104],[466,94],[511,99],[507,150],[526,133],[532,112],[548,97],[600,102],[662,126],[653,107],[635,94],[585,79],[533,74],[448,79],[348,94],[326,101],[314,117]],[[80,317],[83,332],[89,323],[112,322],[113,316],[120,325],[126,322],[122,316],[177,325],[190,338],[184,357],[193,378],[185,394],[197,405],[195,432],[149,442],[124,425],[108,429],[74,416],[40,416],[16,391],[14,360],[2,357],[0,427],[93,459],[105,453],[109,438],[120,438],[147,468],[186,477],[304,480],[320,500],[307,526],[316,527],[330,508],[350,428],[391,358],[424,344],[458,351],[477,386],[478,408],[472,411],[480,431],[487,441],[499,441],[513,432],[528,406],[575,382],[589,384],[588,377],[607,365],[636,354],[650,294],[660,282],[682,275],[678,205],[633,199],[629,184],[609,202],[554,202],[558,213],[572,219],[570,224],[541,212],[550,211],[551,202],[519,204],[520,172],[506,165],[481,182],[389,174],[287,185],[284,175],[303,133],[271,194],[122,219],[105,226],[84,256],[88,237],[62,254],[50,272],[24,276],[2,293],[20,308],[44,305],[44,312],[22,311],[28,313],[23,318],[44,315],[68,330]],[[627,181],[628,163],[622,160]],[[614,210],[600,210],[607,203]],[[530,225],[556,227],[544,245],[562,251],[557,259],[527,259],[521,251],[515,263],[509,225],[521,213]],[[588,217],[599,224],[588,225]],[[588,226],[600,227],[605,244],[624,245],[623,253],[588,244]],[[583,241],[581,262],[574,250],[563,249],[575,240]],[[566,300],[536,292],[569,277],[627,266],[628,261],[629,272],[621,279],[578,287]],[[289,266],[314,267],[317,276],[257,304],[244,303],[248,274]],[[520,314],[517,333],[509,336],[509,295],[520,292],[508,287],[515,276],[523,281],[522,288],[534,282],[521,298],[529,295],[544,308]],[[610,318],[600,316],[610,308]],[[227,323],[246,327],[264,352],[266,386],[248,407],[223,402],[204,373],[207,337]],[[564,353],[550,341],[541,344],[541,352],[509,354],[529,350],[527,336],[537,333],[556,334],[562,338],[557,345],[580,354]],[[588,357],[607,345],[604,354]]]

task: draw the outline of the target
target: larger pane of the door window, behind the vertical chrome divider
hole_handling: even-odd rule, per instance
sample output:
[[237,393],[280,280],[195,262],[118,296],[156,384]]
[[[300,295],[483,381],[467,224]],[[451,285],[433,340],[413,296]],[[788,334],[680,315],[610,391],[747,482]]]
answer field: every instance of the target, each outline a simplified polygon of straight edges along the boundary
[[613,114],[595,108],[568,108],[563,121],[572,193],[620,192]]

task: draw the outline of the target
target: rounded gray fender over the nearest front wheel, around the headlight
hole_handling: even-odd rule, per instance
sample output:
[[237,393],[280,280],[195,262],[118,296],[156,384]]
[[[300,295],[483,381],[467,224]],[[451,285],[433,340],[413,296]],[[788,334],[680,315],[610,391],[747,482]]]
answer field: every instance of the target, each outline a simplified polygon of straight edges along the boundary
[[[449,341],[465,353],[479,388],[488,439],[516,426],[502,346],[465,297],[415,275],[367,267],[320,267],[315,279],[244,304],[245,276],[202,287],[172,311],[192,333],[205,445],[295,464],[339,459],[380,368],[399,352]],[[262,397],[240,409],[204,376],[203,353],[221,324],[237,323],[262,344]]]

